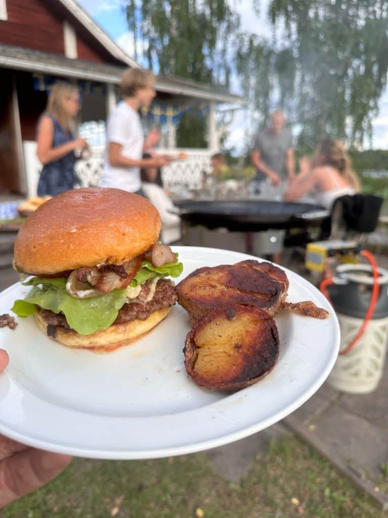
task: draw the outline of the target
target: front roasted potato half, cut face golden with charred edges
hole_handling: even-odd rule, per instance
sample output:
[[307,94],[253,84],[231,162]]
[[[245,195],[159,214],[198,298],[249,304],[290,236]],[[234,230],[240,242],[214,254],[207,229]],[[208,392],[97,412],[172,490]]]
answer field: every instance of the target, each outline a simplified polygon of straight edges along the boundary
[[208,312],[187,334],[188,376],[206,389],[234,392],[256,383],[274,366],[279,335],[274,319],[251,305]]

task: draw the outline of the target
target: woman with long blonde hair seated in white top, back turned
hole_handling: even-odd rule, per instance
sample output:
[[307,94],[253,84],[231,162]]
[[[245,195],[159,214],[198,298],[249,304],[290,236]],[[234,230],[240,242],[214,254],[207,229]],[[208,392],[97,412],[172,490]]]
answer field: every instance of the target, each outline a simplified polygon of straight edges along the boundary
[[360,191],[359,180],[351,170],[349,156],[339,140],[321,140],[312,163],[303,158],[300,168],[285,194],[285,199],[291,202],[312,193],[319,205],[330,210],[340,196]]

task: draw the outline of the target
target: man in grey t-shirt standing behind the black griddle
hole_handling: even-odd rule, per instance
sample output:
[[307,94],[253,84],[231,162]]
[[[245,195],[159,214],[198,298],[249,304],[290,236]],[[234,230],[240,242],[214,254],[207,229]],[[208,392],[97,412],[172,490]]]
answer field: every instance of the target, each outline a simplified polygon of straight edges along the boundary
[[292,180],[294,174],[294,151],[292,135],[285,130],[286,119],[282,111],[274,111],[270,126],[259,133],[251,153],[251,162],[256,167],[256,181],[270,178],[273,185],[282,180]]

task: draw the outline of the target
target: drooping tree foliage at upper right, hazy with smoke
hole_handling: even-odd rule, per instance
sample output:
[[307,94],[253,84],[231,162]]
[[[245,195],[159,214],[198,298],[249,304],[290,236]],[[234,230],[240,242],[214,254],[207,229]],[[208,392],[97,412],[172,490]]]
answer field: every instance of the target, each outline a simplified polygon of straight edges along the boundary
[[350,143],[370,137],[386,84],[388,5],[272,0],[269,14],[271,42],[247,34],[237,49],[245,92],[262,121],[282,107],[301,124],[299,144],[307,147],[326,135]]

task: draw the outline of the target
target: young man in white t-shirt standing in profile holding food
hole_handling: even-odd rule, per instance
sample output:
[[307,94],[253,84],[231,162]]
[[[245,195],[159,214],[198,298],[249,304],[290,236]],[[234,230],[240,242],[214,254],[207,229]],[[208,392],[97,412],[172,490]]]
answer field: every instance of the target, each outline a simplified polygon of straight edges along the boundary
[[[142,159],[144,147],[152,147],[154,134],[144,145],[139,109],[150,106],[156,95],[154,75],[150,70],[129,68],[121,81],[123,98],[114,108],[107,124],[107,148],[101,187],[115,187],[137,194],[141,191],[140,168],[163,167],[166,157]],[[154,142],[155,144],[156,142]]]

